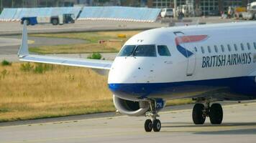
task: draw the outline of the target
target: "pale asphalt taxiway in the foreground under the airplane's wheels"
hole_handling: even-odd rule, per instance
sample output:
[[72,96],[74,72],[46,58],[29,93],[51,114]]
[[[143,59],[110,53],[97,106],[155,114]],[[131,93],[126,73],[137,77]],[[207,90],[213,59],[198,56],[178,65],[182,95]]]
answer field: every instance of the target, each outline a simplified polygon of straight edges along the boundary
[[116,116],[27,124],[0,124],[1,143],[19,142],[256,142],[256,103],[223,107],[221,125],[194,125],[191,105],[160,113],[160,132],[145,132],[145,117]]

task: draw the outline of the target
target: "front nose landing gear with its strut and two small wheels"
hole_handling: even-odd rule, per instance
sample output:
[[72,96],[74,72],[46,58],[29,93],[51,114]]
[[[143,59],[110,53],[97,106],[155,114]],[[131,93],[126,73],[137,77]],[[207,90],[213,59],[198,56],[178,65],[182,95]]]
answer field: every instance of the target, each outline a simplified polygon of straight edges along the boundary
[[146,116],[151,118],[145,121],[144,127],[146,132],[151,132],[152,129],[154,132],[160,132],[161,129],[161,122],[157,119],[159,115],[157,114],[158,110],[155,104],[156,102],[150,102],[150,112],[146,112]]

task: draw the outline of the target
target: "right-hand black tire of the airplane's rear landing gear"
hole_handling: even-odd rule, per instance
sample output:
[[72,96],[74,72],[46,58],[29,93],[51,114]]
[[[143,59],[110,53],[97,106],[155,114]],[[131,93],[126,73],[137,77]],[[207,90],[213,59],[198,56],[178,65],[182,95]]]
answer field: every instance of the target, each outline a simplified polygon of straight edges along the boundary
[[214,103],[211,105],[209,117],[211,124],[221,124],[223,119],[223,110],[221,104]]

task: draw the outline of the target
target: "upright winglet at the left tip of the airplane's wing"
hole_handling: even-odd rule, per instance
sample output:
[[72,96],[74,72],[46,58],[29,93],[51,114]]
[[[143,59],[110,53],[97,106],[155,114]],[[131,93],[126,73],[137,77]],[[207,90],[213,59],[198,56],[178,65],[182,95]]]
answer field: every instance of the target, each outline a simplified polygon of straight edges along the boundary
[[28,48],[29,46],[27,45],[27,21],[24,21],[23,31],[22,31],[22,44],[18,52],[19,58],[29,55]]

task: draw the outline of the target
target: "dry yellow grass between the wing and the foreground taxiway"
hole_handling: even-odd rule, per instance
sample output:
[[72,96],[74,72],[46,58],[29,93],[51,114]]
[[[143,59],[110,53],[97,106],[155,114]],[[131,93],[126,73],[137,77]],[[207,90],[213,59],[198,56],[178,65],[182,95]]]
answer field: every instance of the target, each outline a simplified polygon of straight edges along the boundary
[[[9,65],[0,65],[0,122],[115,111],[107,77],[91,69]],[[168,101],[188,103],[191,99]]]

